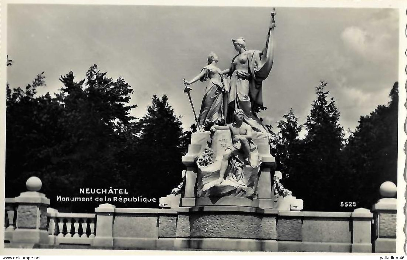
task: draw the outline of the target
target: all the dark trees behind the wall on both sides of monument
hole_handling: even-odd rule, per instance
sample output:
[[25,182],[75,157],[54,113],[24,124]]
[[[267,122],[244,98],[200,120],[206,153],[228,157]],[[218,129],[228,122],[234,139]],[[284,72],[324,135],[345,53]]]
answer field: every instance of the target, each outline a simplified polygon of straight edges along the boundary
[[[7,57],[7,66],[12,65]],[[57,202],[56,196],[83,196],[80,188],[127,189],[128,196],[155,202],[114,203],[157,207],[158,199],[181,182],[191,134],[184,132],[168,96],[152,97],[141,118],[130,115],[133,89],[122,78],[90,67],[83,80],[61,76],[55,96],[37,95],[44,73],[25,87],[7,84],[6,196],[25,190],[29,176],[42,179],[42,192],[60,211],[87,212],[103,202]],[[272,153],[284,187],[304,200],[306,211],[353,211],[341,202],[370,208],[381,183],[397,183],[398,83],[391,101],[379,105],[344,139],[335,99],[321,82],[304,125],[291,109],[272,133]],[[271,126],[269,130],[271,130]],[[306,130],[300,138],[302,129]]]

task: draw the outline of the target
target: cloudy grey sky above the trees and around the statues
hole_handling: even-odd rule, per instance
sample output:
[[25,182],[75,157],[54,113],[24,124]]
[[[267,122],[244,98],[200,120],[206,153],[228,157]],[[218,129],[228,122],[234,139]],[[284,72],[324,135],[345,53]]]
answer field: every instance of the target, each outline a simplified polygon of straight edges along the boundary
[[[263,49],[271,7],[112,6],[62,4],[7,5],[7,67],[12,87],[26,86],[45,72],[39,95],[58,92],[59,78],[73,71],[85,78],[93,64],[132,86],[131,115],[141,118],[154,94],[168,95],[186,130],[194,123],[183,78],[195,77],[208,54],[229,67],[236,51],[232,38],[247,49]],[[398,80],[398,10],[360,8],[276,9],[274,64],[263,81],[265,124],[293,109],[303,123],[315,99],[326,90],[341,113],[339,123],[354,130],[360,116],[389,102]],[[191,87],[198,112],[206,82]]]

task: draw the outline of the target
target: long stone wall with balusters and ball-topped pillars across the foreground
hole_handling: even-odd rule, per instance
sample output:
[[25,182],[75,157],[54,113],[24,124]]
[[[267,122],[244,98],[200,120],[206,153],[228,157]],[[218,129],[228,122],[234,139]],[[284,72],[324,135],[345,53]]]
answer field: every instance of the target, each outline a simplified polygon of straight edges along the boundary
[[102,204],[91,214],[48,208],[49,199],[37,192],[40,180],[27,183],[29,191],[6,198],[7,247],[69,244],[112,249],[396,252],[396,186],[389,182],[380,188],[384,198],[374,204],[372,212],[365,208],[293,211],[291,202],[284,209],[184,207],[174,196],[174,203],[169,201],[172,198],[163,201],[169,208]]

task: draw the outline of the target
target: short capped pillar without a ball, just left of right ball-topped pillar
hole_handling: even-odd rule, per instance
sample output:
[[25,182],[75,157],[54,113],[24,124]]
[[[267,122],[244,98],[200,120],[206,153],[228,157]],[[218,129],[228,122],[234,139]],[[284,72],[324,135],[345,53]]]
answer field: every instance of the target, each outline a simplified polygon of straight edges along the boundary
[[353,219],[352,253],[372,253],[370,230],[373,213],[366,208],[357,208],[352,212],[351,217]]

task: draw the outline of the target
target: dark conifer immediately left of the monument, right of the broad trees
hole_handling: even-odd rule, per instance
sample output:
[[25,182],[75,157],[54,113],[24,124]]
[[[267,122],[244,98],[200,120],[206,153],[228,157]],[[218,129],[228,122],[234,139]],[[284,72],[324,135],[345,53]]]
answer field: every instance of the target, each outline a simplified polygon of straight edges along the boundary
[[182,180],[181,157],[185,145],[180,119],[168,104],[167,95],[161,99],[154,95],[147,114],[138,123],[136,169],[142,173],[139,181],[148,187],[146,192],[151,196],[157,191],[161,196],[168,194],[171,191],[168,186],[174,188]]

